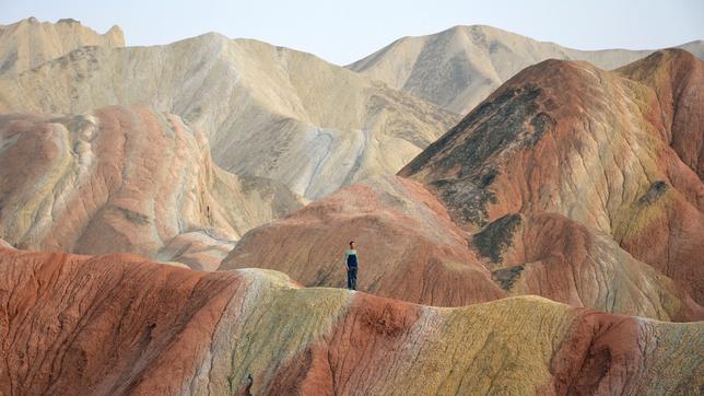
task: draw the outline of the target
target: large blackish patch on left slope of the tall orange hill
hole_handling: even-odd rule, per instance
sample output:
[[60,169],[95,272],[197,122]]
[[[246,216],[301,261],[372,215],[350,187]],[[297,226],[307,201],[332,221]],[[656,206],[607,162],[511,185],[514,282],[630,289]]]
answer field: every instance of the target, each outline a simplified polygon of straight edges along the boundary
[[[535,145],[554,128],[541,110],[540,88],[509,88],[485,101],[457,126],[425,149],[402,172],[430,170],[430,182],[461,222],[486,224],[486,206],[495,203],[490,187],[502,166],[502,153]],[[447,175],[447,176],[441,176]]]

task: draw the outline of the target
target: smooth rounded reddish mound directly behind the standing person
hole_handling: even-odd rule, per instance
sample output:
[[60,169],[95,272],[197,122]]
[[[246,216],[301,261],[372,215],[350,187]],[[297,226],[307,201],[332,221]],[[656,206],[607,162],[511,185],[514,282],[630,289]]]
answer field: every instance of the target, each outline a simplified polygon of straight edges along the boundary
[[304,286],[345,287],[350,241],[359,246],[360,290],[445,306],[505,295],[437,199],[394,176],[352,185],[253,230],[220,269],[270,268]]

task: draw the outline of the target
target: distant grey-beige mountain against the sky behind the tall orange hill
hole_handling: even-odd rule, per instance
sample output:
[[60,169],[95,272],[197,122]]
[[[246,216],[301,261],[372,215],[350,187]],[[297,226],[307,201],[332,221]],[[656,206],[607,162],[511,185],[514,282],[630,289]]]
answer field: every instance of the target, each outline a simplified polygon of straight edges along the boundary
[[[704,59],[702,40],[680,48]],[[583,51],[474,25],[400,38],[348,68],[450,112],[466,114],[518,71],[545,59],[586,60],[602,69],[615,69],[650,53]]]

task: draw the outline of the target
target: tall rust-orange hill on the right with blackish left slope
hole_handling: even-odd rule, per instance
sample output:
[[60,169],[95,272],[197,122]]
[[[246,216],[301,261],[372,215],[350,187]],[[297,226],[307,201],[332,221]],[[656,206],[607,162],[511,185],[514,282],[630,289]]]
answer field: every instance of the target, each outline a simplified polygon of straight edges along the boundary
[[512,213],[563,214],[610,235],[701,304],[704,184],[697,156],[678,143],[694,137],[701,152],[701,65],[667,50],[619,72],[558,60],[530,67],[400,175],[427,185],[470,231]]

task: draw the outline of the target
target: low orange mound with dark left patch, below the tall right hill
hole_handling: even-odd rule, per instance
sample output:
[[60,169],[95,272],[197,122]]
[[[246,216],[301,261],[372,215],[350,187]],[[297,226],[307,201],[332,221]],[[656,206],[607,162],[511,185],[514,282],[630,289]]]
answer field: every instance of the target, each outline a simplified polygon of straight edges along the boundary
[[508,295],[664,321],[699,321],[704,308],[671,279],[609,236],[555,213],[507,214],[471,247]]

